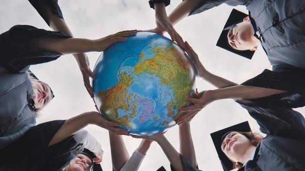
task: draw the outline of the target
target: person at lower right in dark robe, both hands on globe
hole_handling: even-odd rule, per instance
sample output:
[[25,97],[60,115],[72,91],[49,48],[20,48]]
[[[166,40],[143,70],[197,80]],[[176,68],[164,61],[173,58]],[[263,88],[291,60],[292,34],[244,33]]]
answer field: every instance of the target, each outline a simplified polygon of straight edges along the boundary
[[[250,137],[236,133],[239,129],[230,130],[234,132],[226,131],[229,134],[222,132],[218,136],[223,136],[222,141],[220,138],[213,141],[221,161],[225,162],[224,171],[233,169],[234,165],[236,165],[235,168],[244,168],[245,171],[253,169],[261,171],[304,170],[305,165],[302,159],[305,157],[303,152],[305,118],[293,108],[305,105],[303,88],[305,72],[299,72],[300,75],[294,74],[293,78],[289,78],[290,72],[280,73],[282,80],[279,81],[273,77],[278,84],[274,89],[237,85],[209,73],[189,44],[185,43],[185,46],[189,58],[196,65],[198,76],[215,85],[218,89],[203,91],[197,96],[200,98],[187,98],[186,100],[192,105],[182,107],[180,111],[199,111],[215,100],[231,98],[248,110],[251,117],[259,124],[261,132],[267,135],[261,140],[261,143],[251,145]],[[297,86],[291,80],[296,76],[300,79],[297,81]],[[281,89],[282,87],[284,89]],[[186,113],[177,120],[177,123],[183,124],[189,116],[194,117],[194,114]],[[245,130],[242,131],[245,132]],[[237,153],[238,151],[247,151],[247,153],[241,155]],[[252,152],[254,155],[251,155]]]

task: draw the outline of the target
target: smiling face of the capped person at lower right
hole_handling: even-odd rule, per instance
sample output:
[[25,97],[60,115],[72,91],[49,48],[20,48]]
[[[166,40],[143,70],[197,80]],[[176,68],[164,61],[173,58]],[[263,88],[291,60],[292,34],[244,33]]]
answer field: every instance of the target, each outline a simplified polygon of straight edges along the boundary
[[230,132],[222,142],[221,149],[227,155],[227,157],[233,161],[238,161],[246,150],[252,146],[254,145],[243,134],[238,132]]

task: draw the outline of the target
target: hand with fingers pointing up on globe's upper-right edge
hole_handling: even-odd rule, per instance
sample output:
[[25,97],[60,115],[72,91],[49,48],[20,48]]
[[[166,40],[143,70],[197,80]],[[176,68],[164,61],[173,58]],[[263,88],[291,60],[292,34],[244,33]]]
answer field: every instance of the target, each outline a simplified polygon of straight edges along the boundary
[[196,75],[198,77],[202,77],[205,75],[207,70],[204,68],[203,64],[200,62],[198,55],[193,50],[193,48],[188,44],[188,42],[185,42],[185,51],[187,53],[188,59],[195,65],[196,67]]

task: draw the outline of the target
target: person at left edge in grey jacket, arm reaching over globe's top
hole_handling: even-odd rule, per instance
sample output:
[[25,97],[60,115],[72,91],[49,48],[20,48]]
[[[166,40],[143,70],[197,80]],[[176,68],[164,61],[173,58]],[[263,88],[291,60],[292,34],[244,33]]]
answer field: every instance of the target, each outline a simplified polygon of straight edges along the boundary
[[[36,124],[36,111],[53,97],[51,88],[32,81],[26,71],[31,64],[56,60],[63,54],[103,51],[125,41],[135,30],[122,31],[97,40],[72,38],[30,25],[16,25],[0,35],[0,149],[20,138]],[[14,105],[12,105],[14,104]]]

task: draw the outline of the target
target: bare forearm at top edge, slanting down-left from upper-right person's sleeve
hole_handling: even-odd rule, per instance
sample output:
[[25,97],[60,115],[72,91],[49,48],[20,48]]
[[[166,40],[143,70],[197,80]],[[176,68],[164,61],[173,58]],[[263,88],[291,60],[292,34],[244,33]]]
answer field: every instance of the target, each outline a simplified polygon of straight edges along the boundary
[[187,17],[197,9],[205,0],[183,0],[168,16],[173,25]]

